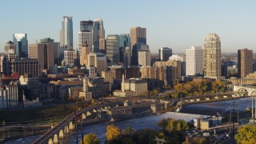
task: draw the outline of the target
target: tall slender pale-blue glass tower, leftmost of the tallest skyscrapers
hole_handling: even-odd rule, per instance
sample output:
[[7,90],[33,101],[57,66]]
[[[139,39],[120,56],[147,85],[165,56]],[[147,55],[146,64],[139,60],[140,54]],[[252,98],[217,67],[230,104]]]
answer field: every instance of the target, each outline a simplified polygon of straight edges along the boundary
[[[63,16],[62,30],[60,30],[60,54],[65,50],[73,50],[73,21],[72,17]],[[63,58],[63,57],[62,57]]]

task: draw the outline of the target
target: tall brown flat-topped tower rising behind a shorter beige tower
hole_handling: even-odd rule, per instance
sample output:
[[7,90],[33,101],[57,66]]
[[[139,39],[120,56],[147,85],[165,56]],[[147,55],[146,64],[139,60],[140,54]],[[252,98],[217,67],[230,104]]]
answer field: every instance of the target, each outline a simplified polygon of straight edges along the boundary
[[130,29],[130,48],[133,66],[138,66],[138,44],[146,44],[146,28],[134,27]]

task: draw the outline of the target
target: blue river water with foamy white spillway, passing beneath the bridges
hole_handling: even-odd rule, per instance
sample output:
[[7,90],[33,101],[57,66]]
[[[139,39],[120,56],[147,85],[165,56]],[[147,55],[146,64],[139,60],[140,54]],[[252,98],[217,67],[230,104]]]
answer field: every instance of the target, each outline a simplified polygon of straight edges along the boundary
[[[198,107],[202,109],[223,109],[223,110],[230,110],[231,104],[235,102],[236,107],[238,110],[246,110],[246,108],[251,108],[251,98],[240,98],[236,100],[229,100],[229,101],[222,101],[222,102],[210,102],[210,103],[202,103],[202,104],[194,104],[189,105],[191,107]],[[236,108],[237,109],[237,108]],[[161,115],[150,115],[142,118],[132,118],[127,120],[122,120],[119,122],[114,122],[114,126],[118,126],[120,129],[125,129],[126,127],[130,126],[133,130],[141,130],[145,128],[152,128],[154,130],[159,129],[157,123],[162,118],[175,118],[175,119],[184,119],[186,122],[193,120],[194,118],[202,118],[204,115],[199,114],[182,114],[182,113],[174,113],[174,112],[167,112],[166,114]],[[97,134],[98,138],[101,142],[105,141],[105,134],[106,134],[106,126],[109,123],[103,122],[99,124],[94,124],[90,126],[83,127],[83,134],[90,134],[94,133]],[[22,144],[22,143],[31,143],[36,138],[40,137],[40,135],[31,136],[27,138],[17,138],[12,139],[6,144]],[[81,130],[78,131],[78,140],[81,140]],[[69,143],[76,143],[76,135],[70,134]]]

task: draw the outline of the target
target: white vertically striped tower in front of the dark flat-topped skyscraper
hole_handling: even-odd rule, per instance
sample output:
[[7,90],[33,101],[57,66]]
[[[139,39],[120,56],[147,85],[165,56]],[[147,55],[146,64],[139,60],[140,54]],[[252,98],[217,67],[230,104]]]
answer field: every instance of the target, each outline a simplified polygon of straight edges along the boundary
[[89,52],[92,53],[93,50],[93,38],[92,33],[89,30],[82,30],[78,32],[78,50],[82,52],[82,46],[88,45]]

